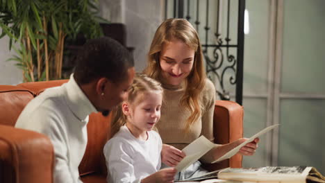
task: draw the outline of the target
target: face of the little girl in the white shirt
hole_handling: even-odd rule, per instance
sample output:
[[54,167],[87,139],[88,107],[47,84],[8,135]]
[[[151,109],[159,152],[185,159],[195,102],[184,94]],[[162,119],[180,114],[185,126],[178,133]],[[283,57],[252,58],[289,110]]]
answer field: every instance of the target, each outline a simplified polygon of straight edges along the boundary
[[[140,100],[140,103],[137,101]],[[122,106],[124,114],[128,116],[126,126],[135,137],[145,135],[147,131],[152,130],[153,126],[160,119],[160,107],[163,101],[161,92],[146,92],[135,98],[135,104]],[[125,104],[125,103],[124,103]],[[128,110],[126,112],[126,110]]]

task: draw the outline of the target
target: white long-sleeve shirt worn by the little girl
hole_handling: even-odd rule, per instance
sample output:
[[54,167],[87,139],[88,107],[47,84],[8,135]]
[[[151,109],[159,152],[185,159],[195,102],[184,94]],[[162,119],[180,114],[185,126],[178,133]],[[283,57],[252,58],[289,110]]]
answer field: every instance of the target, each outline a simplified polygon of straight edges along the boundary
[[124,125],[104,146],[108,182],[138,183],[159,171],[163,143],[157,132],[148,132],[147,141],[136,139]]

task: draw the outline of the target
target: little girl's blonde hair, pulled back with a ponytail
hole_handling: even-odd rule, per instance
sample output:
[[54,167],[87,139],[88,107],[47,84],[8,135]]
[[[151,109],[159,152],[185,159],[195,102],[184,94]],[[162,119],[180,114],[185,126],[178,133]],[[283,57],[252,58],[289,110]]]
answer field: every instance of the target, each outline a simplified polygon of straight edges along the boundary
[[[136,105],[140,103],[144,99],[144,95],[146,92],[161,92],[163,95],[163,87],[161,87],[160,82],[154,80],[153,78],[149,78],[145,74],[138,73],[131,87],[128,89],[128,97],[126,101],[131,105]],[[138,98],[142,94],[142,98]],[[137,103],[135,103],[135,101]],[[127,118],[126,115],[123,114],[122,105],[113,110],[113,120],[111,125],[111,137],[114,136],[119,131],[122,125],[126,124]]]

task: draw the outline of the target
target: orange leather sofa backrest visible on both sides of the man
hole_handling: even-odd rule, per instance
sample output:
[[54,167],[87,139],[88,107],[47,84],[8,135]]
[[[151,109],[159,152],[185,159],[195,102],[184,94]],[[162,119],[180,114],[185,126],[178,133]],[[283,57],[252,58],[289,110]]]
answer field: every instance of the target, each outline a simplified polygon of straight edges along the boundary
[[[24,82],[17,86],[0,85],[0,123],[14,126],[19,114],[26,104],[34,97],[42,94],[44,89],[63,85],[68,80],[53,80],[46,82]],[[90,114],[88,128],[88,144],[85,155],[79,165],[79,173],[106,173],[103,146],[110,133],[110,116],[100,113]]]

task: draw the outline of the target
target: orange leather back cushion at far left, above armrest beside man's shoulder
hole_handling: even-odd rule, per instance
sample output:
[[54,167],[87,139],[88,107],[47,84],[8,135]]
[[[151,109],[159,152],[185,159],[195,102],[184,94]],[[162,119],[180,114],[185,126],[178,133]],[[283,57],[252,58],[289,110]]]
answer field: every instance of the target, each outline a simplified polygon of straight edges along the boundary
[[33,98],[33,92],[28,89],[0,85],[0,124],[15,126],[19,114]]

